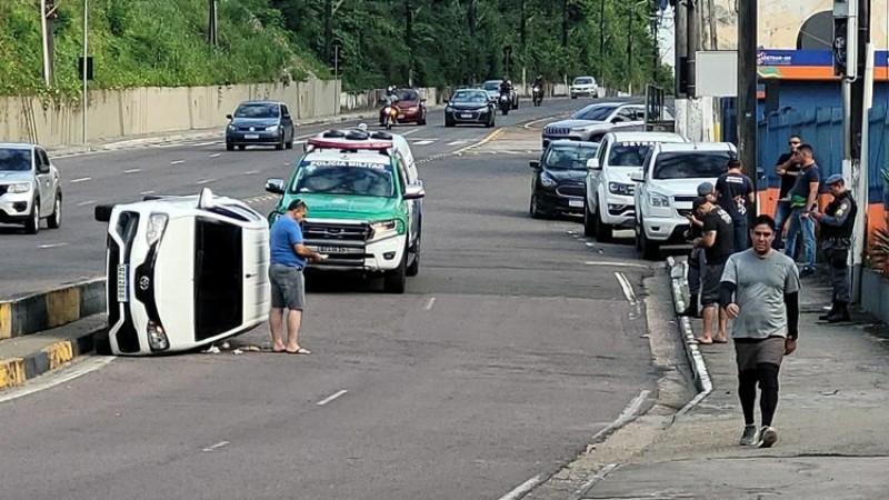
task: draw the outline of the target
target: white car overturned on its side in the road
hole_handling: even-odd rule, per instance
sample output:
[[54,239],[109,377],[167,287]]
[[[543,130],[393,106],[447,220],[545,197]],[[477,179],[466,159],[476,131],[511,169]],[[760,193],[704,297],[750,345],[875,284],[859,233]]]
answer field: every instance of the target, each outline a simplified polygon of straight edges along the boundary
[[187,351],[268,319],[269,226],[246,203],[204,188],[99,206],[94,216],[108,222],[114,354]]

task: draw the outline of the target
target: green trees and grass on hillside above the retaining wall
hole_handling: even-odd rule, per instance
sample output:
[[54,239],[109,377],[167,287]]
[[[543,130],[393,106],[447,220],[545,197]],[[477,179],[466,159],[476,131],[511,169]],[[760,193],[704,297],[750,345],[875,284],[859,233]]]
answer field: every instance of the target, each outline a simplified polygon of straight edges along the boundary
[[[39,2],[0,0],[0,93],[78,92],[83,2],[56,1],[56,88],[48,90]],[[90,0],[93,84],[329,78],[337,44],[351,90],[475,83],[507,72],[519,81],[522,69],[550,81],[592,74],[615,88],[672,80],[656,59],[653,0],[219,0],[214,49],[207,42],[208,3]]]

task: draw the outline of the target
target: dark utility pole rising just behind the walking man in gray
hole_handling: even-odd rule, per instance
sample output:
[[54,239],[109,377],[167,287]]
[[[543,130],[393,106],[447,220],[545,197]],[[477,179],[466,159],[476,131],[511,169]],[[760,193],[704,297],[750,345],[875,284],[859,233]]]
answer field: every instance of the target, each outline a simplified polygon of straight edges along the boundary
[[[757,0],[738,2],[738,157],[757,191]],[[757,200],[748,212],[759,213]]]

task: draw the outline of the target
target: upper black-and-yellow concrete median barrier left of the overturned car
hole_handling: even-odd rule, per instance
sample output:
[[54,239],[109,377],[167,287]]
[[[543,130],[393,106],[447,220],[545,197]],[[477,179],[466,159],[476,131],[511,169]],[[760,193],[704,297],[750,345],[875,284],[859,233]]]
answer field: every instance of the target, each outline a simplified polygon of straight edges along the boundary
[[104,278],[0,301],[0,340],[22,337],[106,311]]

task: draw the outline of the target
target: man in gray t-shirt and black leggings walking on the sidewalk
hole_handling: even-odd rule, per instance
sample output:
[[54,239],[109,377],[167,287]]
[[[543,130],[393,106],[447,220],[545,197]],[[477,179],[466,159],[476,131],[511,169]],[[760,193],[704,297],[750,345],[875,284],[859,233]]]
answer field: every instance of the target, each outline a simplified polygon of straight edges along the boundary
[[[753,247],[726,262],[719,302],[735,319],[731,338],[745,420],[740,444],[769,448],[778,440],[771,426],[778,408],[778,371],[783,357],[797,349],[799,271],[790,257],[772,250],[775,219],[759,216],[752,226]],[[762,418],[758,430],[757,383]]]

